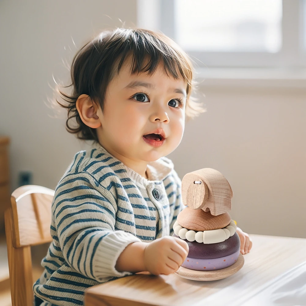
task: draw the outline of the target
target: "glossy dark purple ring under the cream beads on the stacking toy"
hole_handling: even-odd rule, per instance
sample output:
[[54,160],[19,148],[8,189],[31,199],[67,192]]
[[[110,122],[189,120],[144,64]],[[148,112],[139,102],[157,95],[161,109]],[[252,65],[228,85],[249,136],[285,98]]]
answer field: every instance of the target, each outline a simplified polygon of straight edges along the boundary
[[[178,237],[173,234],[174,237]],[[178,237],[180,238],[180,237]],[[180,238],[181,239],[181,238]],[[188,257],[199,259],[211,259],[229,256],[240,250],[240,238],[235,232],[232,237],[219,243],[200,243],[196,241],[188,241],[185,239],[189,247]]]

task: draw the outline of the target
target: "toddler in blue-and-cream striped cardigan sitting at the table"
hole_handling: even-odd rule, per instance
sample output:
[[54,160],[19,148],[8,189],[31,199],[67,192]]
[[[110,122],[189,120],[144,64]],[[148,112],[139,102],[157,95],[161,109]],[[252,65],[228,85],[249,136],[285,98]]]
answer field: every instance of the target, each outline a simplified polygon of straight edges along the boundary
[[[118,28],[77,52],[71,79],[71,94],[60,91],[66,128],[93,144],[56,187],[37,306],[83,305],[90,286],[140,271],[174,273],[188,255],[187,243],[171,236],[183,204],[165,157],[180,144],[185,118],[203,112],[190,97],[188,56],[165,35]],[[237,232],[249,252],[248,234]]]

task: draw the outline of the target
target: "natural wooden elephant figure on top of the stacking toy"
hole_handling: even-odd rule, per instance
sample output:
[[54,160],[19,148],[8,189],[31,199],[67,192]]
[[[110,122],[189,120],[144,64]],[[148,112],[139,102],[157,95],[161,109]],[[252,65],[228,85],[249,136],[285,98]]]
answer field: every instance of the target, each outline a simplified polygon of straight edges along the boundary
[[192,209],[218,216],[232,209],[233,190],[217,170],[203,168],[187,173],[182,180],[182,201]]

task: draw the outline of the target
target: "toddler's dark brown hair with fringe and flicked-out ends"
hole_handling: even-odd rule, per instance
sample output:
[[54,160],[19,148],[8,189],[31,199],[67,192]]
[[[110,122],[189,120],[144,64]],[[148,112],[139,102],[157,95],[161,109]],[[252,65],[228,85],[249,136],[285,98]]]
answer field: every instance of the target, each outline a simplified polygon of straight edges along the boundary
[[[194,86],[192,79],[192,63],[187,54],[169,37],[144,29],[116,28],[103,31],[94,39],[88,41],[75,54],[71,65],[71,94],[58,89],[66,104],[60,103],[68,110],[66,129],[77,134],[79,139],[97,140],[96,129],[85,125],[76,109],[76,100],[82,94],[89,95],[95,103],[99,103],[103,111],[105,93],[110,81],[118,75],[124,61],[131,56],[131,73],[155,73],[159,63],[162,63],[167,75],[175,79],[182,77],[186,84],[187,100],[186,118],[194,118],[204,112],[202,105],[191,98]],[[76,126],[69,124],[76,120]]]

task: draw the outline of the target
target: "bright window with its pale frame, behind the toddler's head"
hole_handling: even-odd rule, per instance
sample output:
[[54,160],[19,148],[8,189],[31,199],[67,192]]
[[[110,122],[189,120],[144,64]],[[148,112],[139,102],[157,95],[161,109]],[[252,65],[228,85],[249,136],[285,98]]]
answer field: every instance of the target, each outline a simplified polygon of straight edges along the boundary
[[139,0],[138,5],[138,26],[161,30],[200,67],[305,67],[304,16],[306,0]]

